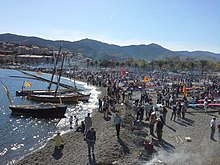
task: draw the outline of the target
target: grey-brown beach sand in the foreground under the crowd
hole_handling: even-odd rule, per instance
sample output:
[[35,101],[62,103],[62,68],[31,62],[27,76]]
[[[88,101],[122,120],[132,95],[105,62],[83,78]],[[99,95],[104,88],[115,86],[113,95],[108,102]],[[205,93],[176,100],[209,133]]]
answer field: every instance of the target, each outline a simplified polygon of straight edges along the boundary
[[[106,88],[100,88],[101,96],[106,95]],[[140,92],[134,97],[139,98]],[[117,104],[116,109],[123,117],[120,139],[117,139],[113,125],[114,112],[108,119],[94,110],[93,126],[96,130],[97,141],[95,154],[89,158],[84,136],[74,129],[62,135],[64,148],[60,155],[53,155],[54,144],[50,140],[45,147],[25,156],[16,165],[138,165],[138,164],[175,164],[175,165],[219,165],[220,143],[209,139],[209,123],[212,116],[220,121],[219,114],[198,113],[189,109],[186,120],[171,121],[171,109],[168,109],[167,125],[163,129],[162,143],[155,142],[154,153],[146,153],[144,141],[151,140],[148,121],[140,126],[132,124],[131,100],[125,104]],[[217,131],[215,134],[217,138]],[[187,141],[185,137],[190,137]]]

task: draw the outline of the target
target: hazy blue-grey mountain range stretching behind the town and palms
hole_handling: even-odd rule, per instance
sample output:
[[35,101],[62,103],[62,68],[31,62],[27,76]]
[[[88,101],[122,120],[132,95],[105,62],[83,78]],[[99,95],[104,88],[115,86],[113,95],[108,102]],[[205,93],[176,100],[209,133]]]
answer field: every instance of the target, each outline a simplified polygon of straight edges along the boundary
[[62,49],[71,52],[79,52],[82,55],[92,58],[94,60],[112,59],[112,60],[125,60],[128,58],[140,60],[164,60],[170,58],[195,58],[197,60],[205,59],[212,61],[220,61],[220,54],[206,52],[206,51],[171,51],[163,48],[157,44],[149,45],[130,45],[118,46],[100,41],[83,39],[80,41],[64,41],[64,40],[46,40],[38,37],[27,37],[15,34],[0,34],[0,41],[8,43],[16,43],[20,45],[38,45],[47,47],[49,49],[59,49],[62,44]]

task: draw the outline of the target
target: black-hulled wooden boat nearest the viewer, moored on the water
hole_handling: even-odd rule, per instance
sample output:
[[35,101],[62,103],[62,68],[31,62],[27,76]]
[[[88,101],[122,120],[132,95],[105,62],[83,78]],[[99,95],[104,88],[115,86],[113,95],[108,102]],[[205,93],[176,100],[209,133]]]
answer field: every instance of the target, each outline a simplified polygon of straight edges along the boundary
[[10,105],[12,115],[24,115],[38,118],[63,118],[67,106],[63,104]]

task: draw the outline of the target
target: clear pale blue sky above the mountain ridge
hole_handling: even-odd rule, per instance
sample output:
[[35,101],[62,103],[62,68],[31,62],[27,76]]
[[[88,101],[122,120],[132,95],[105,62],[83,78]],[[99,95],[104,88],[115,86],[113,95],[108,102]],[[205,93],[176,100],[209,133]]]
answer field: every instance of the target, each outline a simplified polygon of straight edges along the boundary
[[0,34],[220,53],[220,0],[0,0]]

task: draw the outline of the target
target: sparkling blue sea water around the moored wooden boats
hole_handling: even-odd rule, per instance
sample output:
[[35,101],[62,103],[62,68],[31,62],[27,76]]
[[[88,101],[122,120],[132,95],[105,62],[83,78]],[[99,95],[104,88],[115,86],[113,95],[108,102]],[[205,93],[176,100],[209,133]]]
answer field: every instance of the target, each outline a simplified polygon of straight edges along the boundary
[[[43,73],[39,75],[35,72],[28,73],[51,79],[50,74]],[[55,77],[54,81],[56,81]],[[18,70],[0,69],[0,80],[8,88],[13,104],[36,104],[25,97],[17,97],[16,91],[22,89],[26,82],[32,86],[25,87],[27,90],[46,90],[48,83],[29,79]],[[74,81],[68,78],[61,78],[61,83],[74,85]],[[79,102],[77,104],[68,104],[65,118],[62,119],[38,119],[25,116],[13,116],[9,109],[9,99],[3,86],[0,84],[0,165],[14,164],[23,156],[34,152],[46,145],[57,131],[61,134],[70,130],[69,117],[76,115],[80,121],[84,120],[87,113],[91,113],[98,107],[98,95],[100,91],[84,82],[75,81],[75,86],[84,93],[91,93],[88,102]],[[56,86],[52,85],[52,89]]]

